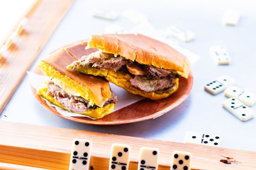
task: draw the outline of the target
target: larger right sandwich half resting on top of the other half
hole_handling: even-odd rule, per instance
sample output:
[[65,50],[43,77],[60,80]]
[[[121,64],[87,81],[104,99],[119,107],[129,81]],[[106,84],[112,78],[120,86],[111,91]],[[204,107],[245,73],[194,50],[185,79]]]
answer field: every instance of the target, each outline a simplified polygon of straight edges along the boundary
[[189,77],[190,63],[183,54],[142,34],[92,35],[86,46],[90,48],[98,51],[67,68],[104,77],[146,98],[166,98],[177,91],[180,77]]

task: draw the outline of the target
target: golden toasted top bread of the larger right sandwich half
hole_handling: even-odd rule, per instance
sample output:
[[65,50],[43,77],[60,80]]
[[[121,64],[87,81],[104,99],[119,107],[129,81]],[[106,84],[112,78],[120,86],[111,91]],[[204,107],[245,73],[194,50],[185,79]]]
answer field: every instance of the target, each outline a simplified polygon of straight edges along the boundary
[[98,48],[140,64],[177,71],[182,77],[189,77],[190,63],[183,54],[166,43],[142,34],[92,35],[86,48]]

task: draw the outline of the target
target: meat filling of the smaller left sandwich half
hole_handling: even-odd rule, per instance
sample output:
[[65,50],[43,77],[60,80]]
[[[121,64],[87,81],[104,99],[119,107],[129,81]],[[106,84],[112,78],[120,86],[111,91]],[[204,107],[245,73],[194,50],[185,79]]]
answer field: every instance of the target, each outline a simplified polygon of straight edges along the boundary
[[[89,102],[83,97],[79,96],[77,92],[67,87],[64,90],[59,85],[56,85],[56,82],[58,81],[54,78],[48,81],[47,85],[49,88],[47,89],[47,92],[57,102],[59,102],[65,108],[68,108],[70,111],[75,113],[83,113],[85,111],[89,111],[91,109],[96,109],[99,107],[97,105],[89,105]],[[117,98],[111,91],[111,98],[109,98],[103,106],[115,103],[116,101]]]

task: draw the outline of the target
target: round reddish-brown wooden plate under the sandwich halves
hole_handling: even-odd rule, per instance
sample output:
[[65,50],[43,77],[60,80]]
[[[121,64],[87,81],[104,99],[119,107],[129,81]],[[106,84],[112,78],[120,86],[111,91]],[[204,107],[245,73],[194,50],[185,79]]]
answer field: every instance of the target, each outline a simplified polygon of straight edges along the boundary
[[[33,73],[43,75],[43,73],[38,68],[35,68]],[[178,90],[168,98],[160,100],[143,99],[132,105],[128,105],[125,108],[121,108],[118,111],[108,114],[107,116],[100,119],[63,116],[58,113],[54,107],[47,105],[47,103],[41,99],[41,96],[36,93],[36,90],[32,86],[31,87],[35,99],[44,108],[64,119],[93,125],[119,125],[157,118],[164,113],[167,113],[168,111],[180,105],[180,103],[189,96],[189,93],[192,89],[192,84],[193,77],[192,73],[190,73],[188,79],[183,77],[180,78]]]

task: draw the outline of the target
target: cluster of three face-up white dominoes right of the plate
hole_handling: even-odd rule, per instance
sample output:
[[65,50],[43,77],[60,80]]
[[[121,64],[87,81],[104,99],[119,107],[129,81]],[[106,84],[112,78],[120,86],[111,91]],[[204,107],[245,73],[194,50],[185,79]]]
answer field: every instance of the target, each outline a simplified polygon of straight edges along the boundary
[[233,78],[223,75],[207,83],[204,89],[212,95],[224,91],[228,99],[222,103],[222,106],[241,121],[247,121],[254,116],[254,111],[248,106],[256,103],[256,95],[234,86],[234,82]]

